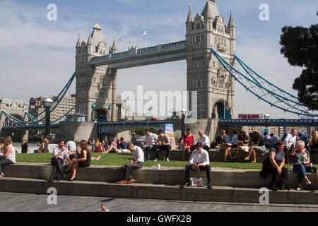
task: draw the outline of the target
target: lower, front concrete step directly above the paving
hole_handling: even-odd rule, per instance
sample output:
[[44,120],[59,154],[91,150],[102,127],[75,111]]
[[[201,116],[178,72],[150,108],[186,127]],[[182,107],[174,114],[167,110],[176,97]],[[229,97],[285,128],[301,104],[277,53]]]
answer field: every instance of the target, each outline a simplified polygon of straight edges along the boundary
[[[213,189],[163,184],[113,184],[107,182],[60,181],[5,177],[0,179],[0,191],[27,194],[51,194],[54,187],[57,195],[97,196],[112,198],[143,198],[175,201],[213,201],[235,203],[259,203],[263,193],[259,189],[243,189],[228,186],[213,186]],[[317,204],[318,191],[269,191],[269,203]]]

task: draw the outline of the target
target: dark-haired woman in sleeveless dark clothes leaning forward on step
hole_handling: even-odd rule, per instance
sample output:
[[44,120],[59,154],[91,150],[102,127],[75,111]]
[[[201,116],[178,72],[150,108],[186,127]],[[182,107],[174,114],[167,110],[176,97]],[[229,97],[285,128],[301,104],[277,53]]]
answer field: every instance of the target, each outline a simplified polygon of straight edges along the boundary
[[273,177],[271,179],[271,186],[270,186],[270,189],[273,191],[278,190],[275,184],[279,176],[281,176],[281,179],[283,180],[285,184],[285,189],[289,190],[288,169],[284,167],[285,153],[283,152],[283,150],[284,150],[283,142],[278,141],[278,143],[276,143],[275,145],[275,148],[271,148],[269,153],[266,155],[261,172],[259,172],[261,177],[263,177],[264,179],[266,179],[267,174],[273,174]]

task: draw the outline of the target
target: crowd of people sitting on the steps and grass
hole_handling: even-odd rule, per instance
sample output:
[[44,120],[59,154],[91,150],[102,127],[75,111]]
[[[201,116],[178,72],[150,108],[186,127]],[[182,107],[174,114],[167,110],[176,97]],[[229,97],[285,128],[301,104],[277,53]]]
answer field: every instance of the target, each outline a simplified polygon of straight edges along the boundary
[[[223,153],[224,162],[228,161],[228,158],[232,161],[240,161],[242,152],[247,152],[245,160],[253,155],[252,162],[257,162],[256,153],[259,152],[263,155],[266,153],[266,148],[269,148],[269,152],[266,154],[261,169],[261,177],[266,177],[268,174],[272,174],[270,188],[273,191],[278,190],[278,182],[283,184],[284,189],[290,189],[288,186],[288,169],[285,167],[286,163],[292,164],[292,171],[298,175],[298,187],[297,190],[302,190],[302,181],[305,179],[306,184],[311,184],[307,177],[306,169],[311,163],[310,155],[312,153],[318,153],[318,132],[312,131],[311,138],[308,140],[306,136],[301,133],[297,133],[295,129],[292,129],[290,133],[285,134],[283,138],[278,139],[272,133],[264,133],[261,136],[260,133],[254,131],[249,133],[249,136],[245,131],[238,133],[233,131],[232,139],[226,134],[224,130],[220,131],[220,135],[216,137],[211,143],[208,136],[204,134],[204,131],[199,131],[199,139],[196,142],[191,129],[187,129],[187,133],[180,139],[182,150],[182,160],[189,160],[189,163],[185,166],[185,178],[186,184],[191,184],[189,180],[190,171],[206,171],[206,177],[208,179],[208,189],[211,189],[211,166],[208,151],[211,148],[216,148],[216,151]],[[71,171],[70,181],[76,180],[76,168],[89,167],[91,160],[100,160],[99,157],[93,157],[92,153],[131,153],[133,159],[131,162],[123,165],[122,180],[117,184],[132,184],[136,182],[136,179],[131,177],[131,169],[141,169],[143,162],[148,161],[151,158],[151,153],[155,153],[154,161],[158,161],[159,151],[165,151],[164,160],[169,162],[171,143],[170,138],[163,133],[162,129],[158,130],[158,134],[151,133],[149,129],[145,131],[145,139],[142,144],[137,141],[136,134],[131,136],[131,142],[126,143],[124,138],[120,138],[115,141],[112,138],[112,142],[107,141],[105,136],[102,141],[91,138],[89,141],[81,141],[79,148],[73,140],[69,140],[64,143],[63,140],[58,141],[57,146],[54,147],[52,153],[51,164],[53,166],[52,174],[49,177],[49,182],[53,182],[57,172],[64,178],[66,172]],[[38,143],[38,153],[48,152],[49,142],[46,138],[42,139],[42,143]],[[88,148],[91,145],[91,148]],[[24,139],[21,144],[22,153],[30,153],[28,148],[28,139]],[[234,156],[231,151],[236,150]],[[144,157],[146,153],[146,158]],[[2,166],[11,165],[16,162],[16,148],[14,148],[11,137],[0,138],[0,178],[4,177],[2,172]]]

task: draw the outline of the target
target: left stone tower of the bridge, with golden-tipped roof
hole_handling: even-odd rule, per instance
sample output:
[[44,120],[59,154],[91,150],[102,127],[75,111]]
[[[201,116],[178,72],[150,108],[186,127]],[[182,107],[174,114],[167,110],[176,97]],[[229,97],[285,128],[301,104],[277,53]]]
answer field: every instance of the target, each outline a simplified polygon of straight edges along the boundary
[[81,42],[78,34],[76,44],[76,113],[86,115],[86,121],[93,121],[95,116],[102,121],[116,121],[117,105],[117,70],[107,66],[90,66],[92,57],[100,57],[117,52],[116,42],[110,47],[105,42],[98,23],[93,32],[89,32],[88,41]]

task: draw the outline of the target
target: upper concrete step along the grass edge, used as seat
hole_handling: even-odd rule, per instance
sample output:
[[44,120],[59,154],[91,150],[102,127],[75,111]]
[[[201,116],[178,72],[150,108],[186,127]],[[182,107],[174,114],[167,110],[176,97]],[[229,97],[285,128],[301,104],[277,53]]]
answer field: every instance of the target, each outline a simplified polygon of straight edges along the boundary
[[[5,177],[20,177],[34,179],[49,179],[52,172],[52,165],[45,163],[16,163],[4,166]],[[271,175],[267,179],[259,176],[259,169],[229,169],[212,168],[213,186],[230,186],[242,188],[261,188],[269,186]],[[141,184],[184,184],[184,167],[143,167],[142,169],[131,170],[131,175]],[[66,179],[71,177],[71,173],[66,174]],[[201,177],[206,185],[206,172],[191,172],[191,177]],[[318,190],[318,174],[308,174],[312,182],[304,185],[306,189]],[[119,166],[91,165],[87,168],[77,168],[76,179],[90,182],[118,182],[122,179],[122,171]],[[297,174],[288,174],[288,184],[291,188],[296,188],[298,183]]]

